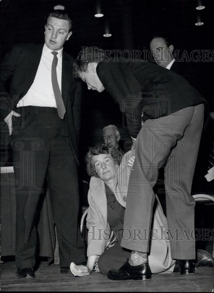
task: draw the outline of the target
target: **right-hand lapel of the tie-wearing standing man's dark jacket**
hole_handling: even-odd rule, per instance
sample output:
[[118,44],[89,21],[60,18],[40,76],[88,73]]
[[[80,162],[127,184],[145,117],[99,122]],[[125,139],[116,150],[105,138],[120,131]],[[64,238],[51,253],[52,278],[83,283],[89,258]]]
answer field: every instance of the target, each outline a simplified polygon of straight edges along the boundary
[[70,88],[70,79],[72,75],[72,64],[66,54],[63,52],[62,58],[62,97],[65,104],[67,105],[68,93]]

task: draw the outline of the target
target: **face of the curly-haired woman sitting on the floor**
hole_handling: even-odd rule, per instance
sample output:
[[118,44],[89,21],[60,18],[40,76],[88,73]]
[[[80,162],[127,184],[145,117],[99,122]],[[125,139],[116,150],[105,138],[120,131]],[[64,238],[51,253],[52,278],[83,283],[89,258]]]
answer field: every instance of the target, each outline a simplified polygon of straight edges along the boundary
[[94,165],[100,179],[109,181],[114,178],[115,164],[110,154],[92,156],[92,164]]

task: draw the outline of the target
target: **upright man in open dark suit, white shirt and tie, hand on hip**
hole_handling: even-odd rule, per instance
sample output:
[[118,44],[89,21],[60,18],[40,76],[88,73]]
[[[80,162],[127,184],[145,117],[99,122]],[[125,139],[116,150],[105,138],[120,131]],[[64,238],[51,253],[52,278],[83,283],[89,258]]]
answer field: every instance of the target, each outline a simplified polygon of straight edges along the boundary
[[34,220],[46,178],[61,273],[70,272],[72,261],[85,261],[85,246],[77,223],[81,85],[73,78],[74,58],[63,51],[71,35],[68,14],[56,9],[46,18],[45,44],[16,45],[1,65],[1,93],[6,92],[4,85],[11,78],[1,117],[9,127],[6,141],[12,137],[17,180],[16,275],[20,278],[35,277]]

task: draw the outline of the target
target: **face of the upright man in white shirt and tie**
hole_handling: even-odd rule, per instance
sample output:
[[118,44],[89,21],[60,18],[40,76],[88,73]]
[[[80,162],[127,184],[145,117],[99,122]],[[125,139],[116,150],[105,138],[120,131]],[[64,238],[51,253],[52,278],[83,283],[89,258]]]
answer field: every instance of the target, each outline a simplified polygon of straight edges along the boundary
[[45,26],[45,43],[53,51],[60,50],[72,32],[69,33],[69,22],[50,16]]

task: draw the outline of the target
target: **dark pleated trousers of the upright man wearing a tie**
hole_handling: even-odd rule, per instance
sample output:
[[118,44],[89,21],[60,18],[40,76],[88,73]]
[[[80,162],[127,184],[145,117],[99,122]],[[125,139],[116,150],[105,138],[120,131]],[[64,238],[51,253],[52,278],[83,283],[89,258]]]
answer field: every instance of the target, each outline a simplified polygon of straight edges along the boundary
[[[16,266],[34,267],[37,246],[35,216],[47,178],[59,243],[60,266],[85,261],[85,246],[77,223],[79,210],[77,163],[65,121],[56,108],[18,108],[13,124],[16,183]],[[71,122],[72,123],[72,122]]]

